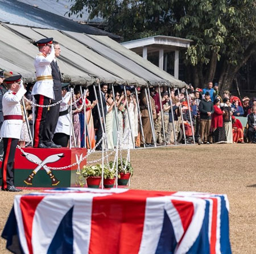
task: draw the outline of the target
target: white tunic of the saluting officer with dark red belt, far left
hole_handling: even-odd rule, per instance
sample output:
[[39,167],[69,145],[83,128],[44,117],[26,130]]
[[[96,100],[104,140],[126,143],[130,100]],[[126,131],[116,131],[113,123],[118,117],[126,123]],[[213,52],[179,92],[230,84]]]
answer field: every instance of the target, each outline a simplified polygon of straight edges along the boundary
[[[22,115],[22,109],[20,106],[20,100],[26,93],[23,85],[20,87],[18,92],[15,94],[13,91],[9,90],[3,95],[3,115]],[[4,120],[1,128],[0,136],[1,138],[13,138],[20,139],[22,130],[23,120],[11,119]]]

